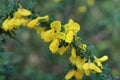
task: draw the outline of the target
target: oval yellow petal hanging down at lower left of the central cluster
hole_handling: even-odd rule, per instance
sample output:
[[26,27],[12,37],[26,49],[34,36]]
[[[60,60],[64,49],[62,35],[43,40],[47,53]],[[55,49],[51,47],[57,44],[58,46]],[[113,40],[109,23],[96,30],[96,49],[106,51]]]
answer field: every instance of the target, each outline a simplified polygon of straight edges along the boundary
[[54,39],[50,46],[49,49],[50,51],[52,51],[52,53],[56,53],[58,51],[58,47],[59,47],[59,40],[58,39]]

